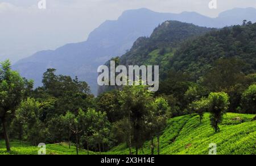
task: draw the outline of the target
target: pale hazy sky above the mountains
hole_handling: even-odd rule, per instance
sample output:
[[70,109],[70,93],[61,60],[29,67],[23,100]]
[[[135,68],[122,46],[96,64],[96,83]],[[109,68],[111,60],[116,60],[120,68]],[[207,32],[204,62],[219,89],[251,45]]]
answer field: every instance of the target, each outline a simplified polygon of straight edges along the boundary
[[216,17],[234,7],[255,7],[256,0],[0,0],[0,60],[20,59],[42,49],[86,40],[89,32],[105,20],[115,20],[123,11],[146,7],[165,13],[196,11]]

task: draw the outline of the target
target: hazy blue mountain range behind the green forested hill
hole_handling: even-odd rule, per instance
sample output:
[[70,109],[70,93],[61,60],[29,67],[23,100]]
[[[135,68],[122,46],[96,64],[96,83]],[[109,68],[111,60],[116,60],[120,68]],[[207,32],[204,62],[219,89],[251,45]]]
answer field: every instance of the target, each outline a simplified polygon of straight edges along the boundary
[[149,36],[165,20],[178,20],[197,26],[221,28],[241,24],[243,19],[256,22],[256,9],[233,9],[209,18],[194,12],[180,14],[156,13],[148,9],[125,11],[118,20],[107,20],[90,33],[86,42],[67,44],[56,50],[40,51],[18,61],[13,69],[23,77],[35,80],[40,86],[47,68],[57,69],[57,74],[88,82],[97,93],[97,68],[111,57],[121,56],[141,36]]

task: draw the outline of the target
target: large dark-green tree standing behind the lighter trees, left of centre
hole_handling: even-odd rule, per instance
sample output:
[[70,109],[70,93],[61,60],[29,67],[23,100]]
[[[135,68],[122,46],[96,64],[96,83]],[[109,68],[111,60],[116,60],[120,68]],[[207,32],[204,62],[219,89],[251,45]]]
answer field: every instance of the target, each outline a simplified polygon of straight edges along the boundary
[[69,76],[56,75],[55,72],[55,69],[47,69],[43,75],[43,87],[38,89],[48,94],[47,98],[56,98],[55,114],[63,115],[66,110],[75,114],[80,108],[88,109],[93,99],[88,84],[77,77],[72,80]]

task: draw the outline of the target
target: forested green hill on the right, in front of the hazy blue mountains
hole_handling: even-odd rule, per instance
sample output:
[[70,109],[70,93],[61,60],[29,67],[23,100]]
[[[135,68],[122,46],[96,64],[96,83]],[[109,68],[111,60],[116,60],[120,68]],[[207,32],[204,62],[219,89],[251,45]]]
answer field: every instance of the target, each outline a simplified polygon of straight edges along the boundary
[[166,72],[188,73],[193,80],[204,76],[219,59],[236,58],[243,72],[255,73],[256,23],[248,22],[221,29],[167,21],[155,28],[150,38],[139,38],[125,55],[124,65],[159,65],[160,77]]

